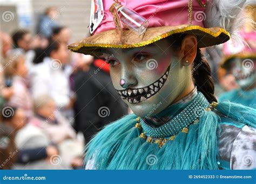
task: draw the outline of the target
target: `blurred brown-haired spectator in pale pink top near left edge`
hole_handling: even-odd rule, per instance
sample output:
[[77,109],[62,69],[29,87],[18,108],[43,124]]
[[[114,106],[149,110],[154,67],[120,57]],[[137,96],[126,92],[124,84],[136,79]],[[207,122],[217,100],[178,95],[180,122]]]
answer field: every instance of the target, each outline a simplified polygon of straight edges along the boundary
[[30,118],[33,113],[32,98],[25,79],[28,69],[25,66],[23,52],[19,49],[10,51],[4,66],[6,86],[12,86],[14,89],[14,95],[10,97],[7,105],[24,109],[26,117]]

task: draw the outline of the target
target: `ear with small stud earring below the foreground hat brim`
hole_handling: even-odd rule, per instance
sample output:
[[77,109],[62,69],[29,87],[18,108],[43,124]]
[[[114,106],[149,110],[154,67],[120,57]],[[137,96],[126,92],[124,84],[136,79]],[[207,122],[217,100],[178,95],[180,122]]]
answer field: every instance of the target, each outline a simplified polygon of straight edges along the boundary
[[181,41],[180,61],[183,66],[190,66],[197,55],[197,37],[193,34],[186,35]]

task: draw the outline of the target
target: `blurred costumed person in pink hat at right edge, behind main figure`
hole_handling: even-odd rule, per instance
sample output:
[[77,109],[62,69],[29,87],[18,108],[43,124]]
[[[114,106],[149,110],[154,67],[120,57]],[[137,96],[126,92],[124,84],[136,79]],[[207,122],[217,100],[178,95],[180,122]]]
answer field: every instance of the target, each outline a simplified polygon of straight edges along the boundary
[[239,88],[220,95],[219,101],[230,101],[256,109],[256,31],[253,27],[250,29],[245,26],[239,34],[245,43],[225,43],[221,64],[227,73],[234,75]]

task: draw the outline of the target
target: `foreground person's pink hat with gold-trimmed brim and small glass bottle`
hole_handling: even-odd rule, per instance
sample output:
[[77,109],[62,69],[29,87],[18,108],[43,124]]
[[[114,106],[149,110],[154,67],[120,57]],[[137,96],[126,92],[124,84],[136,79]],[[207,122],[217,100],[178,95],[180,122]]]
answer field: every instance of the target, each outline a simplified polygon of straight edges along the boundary
[[[236,1],[239,1],[236,6],[239,9],[244,1]],[[68,46],[73,52],[98,55],[100,48],[104,47],[142,47],[176,33],[194,34],[198,39],[199,48],[222,44],[230,39],[227,26],[221,25],[223,24],[221,18],[224,17],[221,7],[224,7],[224,4],[217,4],[221,1],[94,0],[93,2],[93,11],[95,15],[98,13],[94,18],[97,19],[98,16],[103,18],[97,27],[90,25],[90,29],[93,29],[91,37]],[[98,10],[100,5],[104,10]],[[229,10],[232,13],[233,10]],[[130,15],[135,13],[134,17],[127,16],[129,13]],[[133,21],[139,29],[144,28],[142,33],[129,29],[131,27],[126,25],[127,22],[133,24]]]

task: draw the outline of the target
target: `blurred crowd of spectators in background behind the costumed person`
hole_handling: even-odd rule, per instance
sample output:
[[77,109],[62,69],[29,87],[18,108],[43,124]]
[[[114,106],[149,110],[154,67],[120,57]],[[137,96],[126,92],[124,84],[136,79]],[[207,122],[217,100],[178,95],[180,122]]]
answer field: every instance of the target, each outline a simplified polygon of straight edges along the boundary
[[[54,7],[45,11],[36,34],[0,33],[0,169],[81,169],[84,145],[104,125],[129,113],[104,58],[68,51],[71,31],[54,20],[56,13]],[[249,40],[253,37],[255,30]],[[237,79],[247,77],[243,67],[235,61],[222,66],[223,46],[203,52],[218,97],[241,89],[254,90],[255,98],[255,78],[242,87]],[[246,72],[255,75],[255,58],[245,59],[252,64]]]

